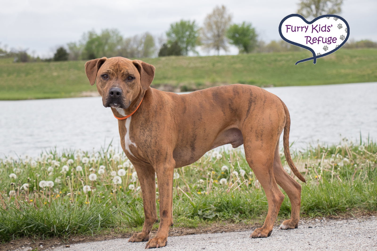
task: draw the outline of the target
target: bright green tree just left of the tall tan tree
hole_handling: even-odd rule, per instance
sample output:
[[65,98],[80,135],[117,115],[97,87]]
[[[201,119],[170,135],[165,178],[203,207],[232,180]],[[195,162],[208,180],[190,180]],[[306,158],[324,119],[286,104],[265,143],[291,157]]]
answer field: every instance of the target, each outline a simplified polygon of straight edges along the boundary
[[190,51],[198,54],[198,52],[195,51],[195,47],[198,43],[199,28],[196,26],[195,21],[181,20],[170,24],[170,29],[166,32],[166,37],[169,45],[172,45],[175,41],[178,42],[179,47],[182,49],[182,55],[187,56]]

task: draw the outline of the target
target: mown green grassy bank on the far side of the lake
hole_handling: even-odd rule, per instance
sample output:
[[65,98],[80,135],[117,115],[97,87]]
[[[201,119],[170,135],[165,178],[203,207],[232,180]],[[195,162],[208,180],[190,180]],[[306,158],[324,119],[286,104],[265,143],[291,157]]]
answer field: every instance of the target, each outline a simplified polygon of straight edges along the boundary
[[[307,86],[377,81],[377,49],[339,49],[317,60],[307,51],[210,57],[142,59],[156,67],[152,87],[182,91],[221,84]],[[84,72],[85,61],[12,63],[0,60],[0,99],[66,98],[96,92]]]

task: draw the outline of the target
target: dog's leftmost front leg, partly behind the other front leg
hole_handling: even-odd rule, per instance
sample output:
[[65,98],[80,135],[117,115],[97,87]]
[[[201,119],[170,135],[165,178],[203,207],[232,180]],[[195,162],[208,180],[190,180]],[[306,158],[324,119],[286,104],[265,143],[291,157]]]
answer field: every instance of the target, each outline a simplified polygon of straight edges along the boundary
[[152,166],[134,165],[140,182],[144,206],[144,226],[141,233],[134,234],[129,242],[146,242],[149,240],[153,224],[158,221],[156,211],[156,178]]

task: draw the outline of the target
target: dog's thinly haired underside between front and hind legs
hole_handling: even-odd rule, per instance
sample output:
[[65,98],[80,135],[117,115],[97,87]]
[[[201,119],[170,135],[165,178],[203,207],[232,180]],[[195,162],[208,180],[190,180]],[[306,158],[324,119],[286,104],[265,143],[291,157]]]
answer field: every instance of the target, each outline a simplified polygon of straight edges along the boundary
[[173,158],[176,168],[190,165],[201,158],[209,150],[221,145],[231,144],[233,148],[244,144],[244,137],[237,128],[230,128],[221,131],[213,141],[195,142],[195,147],[189,144],[179,145],[173,151]]

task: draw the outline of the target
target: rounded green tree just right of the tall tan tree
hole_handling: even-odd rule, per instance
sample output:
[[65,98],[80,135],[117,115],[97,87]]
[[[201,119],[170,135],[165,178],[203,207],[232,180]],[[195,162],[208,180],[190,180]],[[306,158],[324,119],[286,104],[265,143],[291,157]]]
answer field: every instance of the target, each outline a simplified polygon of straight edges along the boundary
[[227,31],[230,44],[238,47],[240,53],[250,53],[257,45],[257,34],[251,23],[233,24]]

